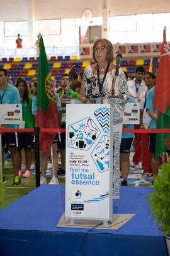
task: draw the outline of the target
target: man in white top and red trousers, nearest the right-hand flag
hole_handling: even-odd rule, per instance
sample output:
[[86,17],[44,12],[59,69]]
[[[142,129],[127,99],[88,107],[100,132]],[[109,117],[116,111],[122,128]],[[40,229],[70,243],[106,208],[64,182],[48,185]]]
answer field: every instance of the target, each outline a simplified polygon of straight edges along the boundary
[[[154,87],[156,82],[156,76],[153,73],[145,73],[145,84],[147,90],[140,94],[140,129],[150,128],[151,118],[146,109],[146,99],[148,91]],[[142,174],[142,179],[152,178],[152,167],[151,167],[151,157],[152,153],[149,152],[149,133],[141,133],[141,145],[142,145],[142,162],[144,172]]]

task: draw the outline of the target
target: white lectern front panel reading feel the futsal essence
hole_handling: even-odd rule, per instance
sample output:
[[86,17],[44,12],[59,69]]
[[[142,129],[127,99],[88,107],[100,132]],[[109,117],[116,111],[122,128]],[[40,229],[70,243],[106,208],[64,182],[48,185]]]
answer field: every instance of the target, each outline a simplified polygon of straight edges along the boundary
[[67,105],[65,217],[111,220],[113,113],[110,104]]

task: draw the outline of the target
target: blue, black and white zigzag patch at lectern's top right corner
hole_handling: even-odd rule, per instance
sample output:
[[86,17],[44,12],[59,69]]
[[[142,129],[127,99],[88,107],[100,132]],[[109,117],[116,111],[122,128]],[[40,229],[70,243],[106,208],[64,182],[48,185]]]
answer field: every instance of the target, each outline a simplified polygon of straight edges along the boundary
[[94,111],[94,116],[99,122],[104,133],[109,133],[110,128],[110,109],[108,107],[100,107]]

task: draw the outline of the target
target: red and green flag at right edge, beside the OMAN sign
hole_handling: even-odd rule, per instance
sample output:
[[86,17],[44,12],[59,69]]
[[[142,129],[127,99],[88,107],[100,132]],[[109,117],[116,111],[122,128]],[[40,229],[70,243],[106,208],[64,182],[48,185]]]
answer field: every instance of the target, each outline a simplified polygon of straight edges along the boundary
[[[165,30],[156,78],[154,109],[158,111],[157,128],[170,128],[170,60]],[[169,149],[170,133],[157,133],[156,159]]]

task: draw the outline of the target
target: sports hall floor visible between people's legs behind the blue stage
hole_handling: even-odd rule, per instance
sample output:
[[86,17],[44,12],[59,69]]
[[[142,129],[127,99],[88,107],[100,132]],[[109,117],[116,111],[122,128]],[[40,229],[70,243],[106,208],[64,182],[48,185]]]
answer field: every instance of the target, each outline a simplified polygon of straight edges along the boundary
[[[130,154],[130,161],[132,161],[133,153]],[[0,205],[0,210],[11,204],[14,200],[23,197],[27,193],[36,188],[35,186],[35,170],[31,170],[31,176],[29,178],[21,178],[21,186],[14,187],[13,184],[13,168],[11,159],[6,159],[4,164],[4,173],[6,184],[3,190],[3,203]],[[134,169],[130,167],[128,174],[128,186],[150,186],[152,179],[141,180],[142,168]],[[50,182],[52,177],[52,169],[47,170],[47,183]],[[59,177],[59,184],[65,185],[65,177]],[[54,185],[51,185],[54,186]]]

